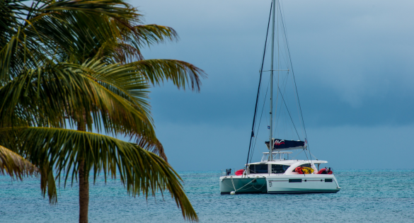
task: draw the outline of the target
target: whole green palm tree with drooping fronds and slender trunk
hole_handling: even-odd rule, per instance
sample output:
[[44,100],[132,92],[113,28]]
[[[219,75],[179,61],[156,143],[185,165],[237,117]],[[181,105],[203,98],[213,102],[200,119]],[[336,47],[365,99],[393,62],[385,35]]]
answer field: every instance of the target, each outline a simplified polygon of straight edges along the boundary
[[61,173],[65,185],[69,176],[79,179],[79,222],[88,222],[89,171],[94,181],[118,171],[128,193],[168,190],[183,216],[197,220],[156,139],[147,95],[149,84],[164,80],[197,91],[205,74],[178,60],[145,60],[139,51],[176,40],[176,32],[141,25],[138,11],[117,0],[0,7],[0,145],[38,167],[42,194],[57,202]]

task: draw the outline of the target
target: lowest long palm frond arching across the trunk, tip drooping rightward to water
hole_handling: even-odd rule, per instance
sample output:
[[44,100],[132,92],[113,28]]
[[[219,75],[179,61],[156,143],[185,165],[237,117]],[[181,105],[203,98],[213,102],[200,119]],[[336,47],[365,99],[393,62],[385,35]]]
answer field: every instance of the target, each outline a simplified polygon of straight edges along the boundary
[[[183,213],[183,217],[197,220],[190,201],[184,193],[180,176],[171,166],[137,144],[91,132],[63,130],[50,127],[0,128],[2,139],[17,140],[15,149],[35,165],[48,164],[57,168],[57,178],[66,185],[79,170],[79,160],[85,159],[86,171],[93,170],[93,179],[103,173],[113,178],[117,174],[126,185],[127,193],[148,198],[157,191],[169,191]],[[1,139],[1,138],[0,138]],[[1,143],[1,142],[0,142]]]

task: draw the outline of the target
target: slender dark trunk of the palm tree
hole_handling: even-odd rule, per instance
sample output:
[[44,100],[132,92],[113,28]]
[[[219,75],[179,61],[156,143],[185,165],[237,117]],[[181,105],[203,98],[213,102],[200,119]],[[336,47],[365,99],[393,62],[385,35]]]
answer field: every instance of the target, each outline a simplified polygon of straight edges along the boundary
[[[78,122],[78,130],[85,131],[86,124]],[[79,159],[79,223],[88,223],[89,206],[89,179],[88,169],[85,164],[85,156],[81,154]]]

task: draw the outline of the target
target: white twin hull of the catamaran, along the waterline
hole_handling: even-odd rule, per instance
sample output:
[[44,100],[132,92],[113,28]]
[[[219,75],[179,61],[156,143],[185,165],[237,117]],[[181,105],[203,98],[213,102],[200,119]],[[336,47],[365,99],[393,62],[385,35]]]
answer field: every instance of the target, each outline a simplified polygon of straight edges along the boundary
[[220,193],[337,193],[335,176],[326,174],[222,176]]

